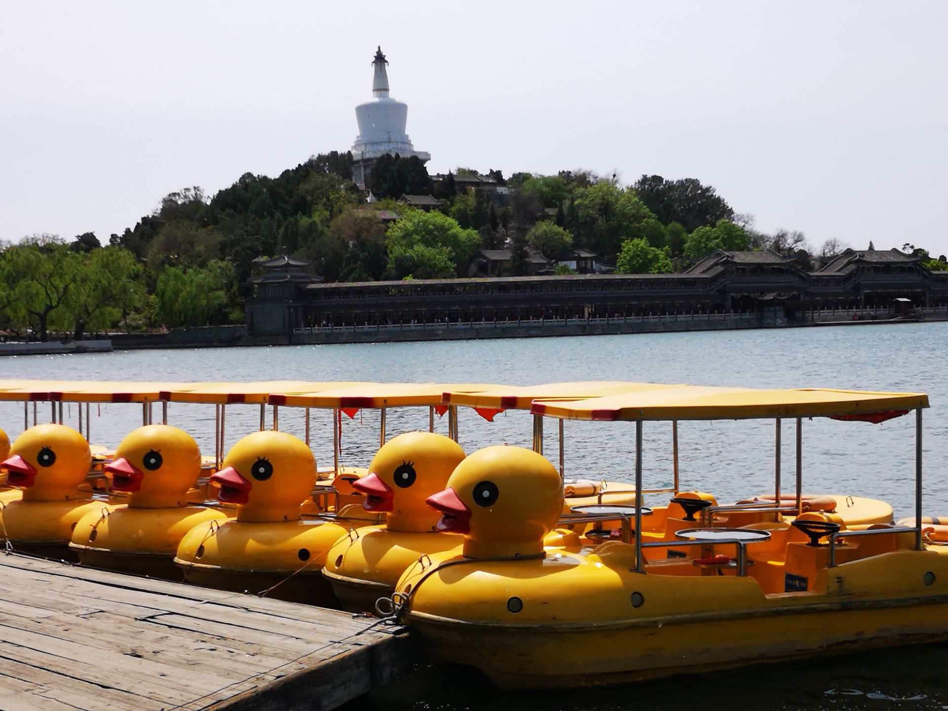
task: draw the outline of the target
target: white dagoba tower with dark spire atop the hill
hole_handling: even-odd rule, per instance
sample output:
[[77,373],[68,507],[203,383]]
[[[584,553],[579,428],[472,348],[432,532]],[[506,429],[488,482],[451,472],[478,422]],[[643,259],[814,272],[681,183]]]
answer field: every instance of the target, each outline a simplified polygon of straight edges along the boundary
[[417,155],[424,163],[431,159],[430,154],[415,151],[411,139],[405,133],[409,107],[389,96],[386,64],[389,63],[379,46],[372,62],[375,70],[372,93],[375,100],[356,106],[358,137],[352,148],[353,180],[360,188],[365,187],[365,176],[371,172],[375,159],[381,155],[398,154],[403,158]]

